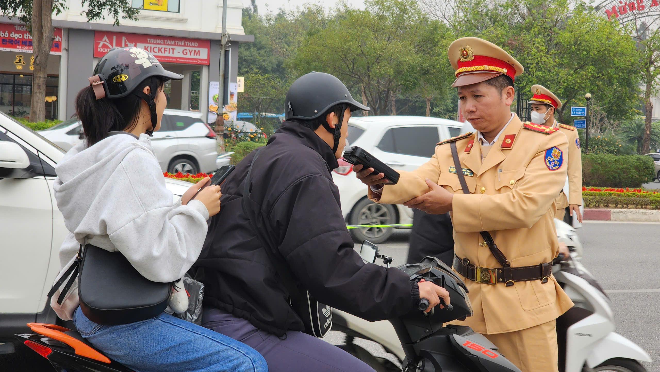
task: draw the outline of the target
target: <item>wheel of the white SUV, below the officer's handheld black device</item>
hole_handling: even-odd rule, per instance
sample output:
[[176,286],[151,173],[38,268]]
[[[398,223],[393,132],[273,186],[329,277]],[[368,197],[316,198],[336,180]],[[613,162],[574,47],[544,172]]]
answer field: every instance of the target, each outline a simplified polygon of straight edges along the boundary
[[[397,223],[397,213],[393,205],[378,204],[365,198],[353,207],[348,223],[350,225],[391,225]],[[394,233],[393,227],[350,229],[350,235],[356,241],[367,240],[374,244],[387,241],[392,233]]]

